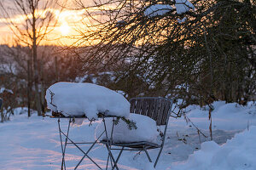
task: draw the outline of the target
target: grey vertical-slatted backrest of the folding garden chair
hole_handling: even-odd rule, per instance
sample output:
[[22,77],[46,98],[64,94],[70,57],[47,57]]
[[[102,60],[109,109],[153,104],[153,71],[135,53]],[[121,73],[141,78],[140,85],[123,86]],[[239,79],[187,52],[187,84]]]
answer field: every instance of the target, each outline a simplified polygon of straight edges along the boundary
[[158,126],[166,125],[172,109],[172,99],[141,97],[130,99],[131,113],[149,116]]

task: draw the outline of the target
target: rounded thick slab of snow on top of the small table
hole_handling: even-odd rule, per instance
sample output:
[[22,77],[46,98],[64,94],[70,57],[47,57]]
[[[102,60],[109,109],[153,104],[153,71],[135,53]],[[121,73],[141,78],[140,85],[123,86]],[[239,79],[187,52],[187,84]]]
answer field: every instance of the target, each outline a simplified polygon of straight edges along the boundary
[[92,83],[57,82],[46,91],[45,99],[51,111],[64,116],[87,116],[97,119],[99,112],[107,116],[130,114],[130,103],[124,96]]

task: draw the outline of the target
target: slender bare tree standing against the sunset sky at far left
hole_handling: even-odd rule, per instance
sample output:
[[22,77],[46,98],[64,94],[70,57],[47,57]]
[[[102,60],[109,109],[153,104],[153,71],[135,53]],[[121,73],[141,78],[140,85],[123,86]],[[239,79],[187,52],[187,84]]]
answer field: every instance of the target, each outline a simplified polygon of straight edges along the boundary
[[[14,0],[13,3],[0,2],[0,9],[15,37],[31,49],[33,65],[33,82],[35,87],[35,100],[38,116],[42,115],[42,106],[39,94],[38,74],[38,45],[54,30],[58,14],[54,9],[62,10],[57,4],[58,0]],[[17,16],[22,19],[17,21]]]

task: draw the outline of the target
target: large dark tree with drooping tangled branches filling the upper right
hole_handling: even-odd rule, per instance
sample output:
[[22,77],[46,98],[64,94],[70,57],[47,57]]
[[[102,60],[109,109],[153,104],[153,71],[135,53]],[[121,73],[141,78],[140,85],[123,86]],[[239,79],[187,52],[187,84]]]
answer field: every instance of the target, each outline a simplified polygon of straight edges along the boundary
[[[175,93],[207,105],[255,93],[255,0],[191,0],[196,10],[182,14],[186,0],[75,2],[90,20],[79,30],[86,47],[75,48],[84,71],[119,70],[131,97]],[[155,5],[169,10],[148,14]]]

